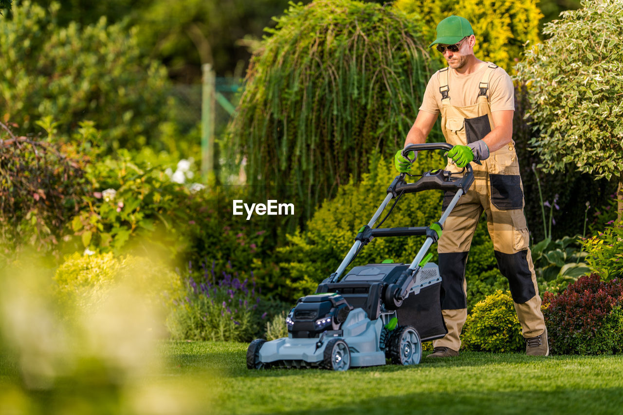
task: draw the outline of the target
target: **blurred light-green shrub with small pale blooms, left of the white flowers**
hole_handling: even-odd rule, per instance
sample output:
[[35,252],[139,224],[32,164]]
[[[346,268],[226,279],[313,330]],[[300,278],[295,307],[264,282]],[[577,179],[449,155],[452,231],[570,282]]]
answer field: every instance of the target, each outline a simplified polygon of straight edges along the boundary
[[88,166],[93,191],[85,198],[87,209],[70,224],[82,248],[141,255],[178,255],[186,249],[185,233],[194,213],[191,192],[161,166],[138,160],[120,150]]

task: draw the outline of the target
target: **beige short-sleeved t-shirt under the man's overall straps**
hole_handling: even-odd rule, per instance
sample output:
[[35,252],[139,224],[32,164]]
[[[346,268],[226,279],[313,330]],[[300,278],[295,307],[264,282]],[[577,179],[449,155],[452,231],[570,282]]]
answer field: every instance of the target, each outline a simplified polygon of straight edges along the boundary
[[[483,75],[489,62],[480,64],[480,68],[468,75],[460,75],[454,69],[448,70],[448,96],[450,97],[450,104],[454,107],[466,107],[467,105],[474,105],[478,102],[478,93],[480,93],[480,81],[482,81]],[[424,99],[422,100],[421,111],[430,112],[433,114],[439,114],[441,108],[441,93],[439,92],[439,71],[430,77],[428,85],[426,85],[426,92],[424,92]],[[513,87],[513,81],[510,76],[506,74],[506,71],[500,67],[493,70],[489,78],[489,90],[487,92],[489,96],[489,105],[491,112],[501,110],[515,110],[515,88]]]

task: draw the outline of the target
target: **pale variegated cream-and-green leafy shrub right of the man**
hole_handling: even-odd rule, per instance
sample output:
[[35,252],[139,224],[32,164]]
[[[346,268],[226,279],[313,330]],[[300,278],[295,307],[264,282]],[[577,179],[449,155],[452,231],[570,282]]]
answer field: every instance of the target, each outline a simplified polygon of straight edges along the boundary
[[[551,36],[526,50],[517,77],[530,90],[528,112],[540,135],[531,145],[543,171],[569,163],[594,178],[616,181],[623,209],[623,2],[582,1],[545,25]],[[552,56],[563,59],[551,59]],[[623,212],[619,212],[619,219]]]

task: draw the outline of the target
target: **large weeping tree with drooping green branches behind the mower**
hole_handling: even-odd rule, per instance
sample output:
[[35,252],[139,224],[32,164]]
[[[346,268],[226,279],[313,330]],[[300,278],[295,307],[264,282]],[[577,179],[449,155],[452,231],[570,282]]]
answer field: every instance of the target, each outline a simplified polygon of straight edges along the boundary
[[275,20],[250,62],[226,147],[229,160],[246,160],[247,184],[275,186],[280,197],[290,189],[308,217],[367,171],[370,155],[402,147],[437,67],[419,23],[391,7],[319,0]]

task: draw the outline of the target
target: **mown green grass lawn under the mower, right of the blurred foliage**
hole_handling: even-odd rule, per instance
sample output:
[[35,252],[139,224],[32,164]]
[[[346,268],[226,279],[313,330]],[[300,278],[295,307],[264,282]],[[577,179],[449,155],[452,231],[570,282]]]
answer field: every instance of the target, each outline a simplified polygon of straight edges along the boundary
[[[464,352],[417,366],[247,370],[244,343],[163,343],[163,376],[204,379],[206,413],[622,414],[623,356]],[[198,403],[198,402],[197,402]]]

